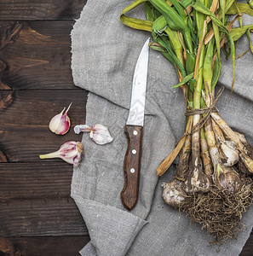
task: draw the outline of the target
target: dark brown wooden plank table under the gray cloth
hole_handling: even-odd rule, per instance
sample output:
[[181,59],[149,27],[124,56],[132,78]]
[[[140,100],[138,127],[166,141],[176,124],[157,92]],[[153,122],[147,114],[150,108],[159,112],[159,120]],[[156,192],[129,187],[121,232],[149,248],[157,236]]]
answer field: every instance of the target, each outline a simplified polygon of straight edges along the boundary
[[[85,0],[0,0],[0,255],[79,255],[88,230],[70,197],[72,166],[39,160],[81,140],[87,91],[75,87],[70,32]],[[72,128],[49,120],[72,102]],[[253,255],[253,236],[241,256]]]

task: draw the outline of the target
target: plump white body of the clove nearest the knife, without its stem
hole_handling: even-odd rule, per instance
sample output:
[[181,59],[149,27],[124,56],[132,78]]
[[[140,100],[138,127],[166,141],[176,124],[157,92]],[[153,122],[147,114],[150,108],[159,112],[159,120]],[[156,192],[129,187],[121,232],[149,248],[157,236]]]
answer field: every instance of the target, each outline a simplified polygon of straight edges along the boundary
[[106,144],[111,143],[113,138],[110,135],[110,132],[104,125],[94,125],[89,131],[89,137],[97,144]]

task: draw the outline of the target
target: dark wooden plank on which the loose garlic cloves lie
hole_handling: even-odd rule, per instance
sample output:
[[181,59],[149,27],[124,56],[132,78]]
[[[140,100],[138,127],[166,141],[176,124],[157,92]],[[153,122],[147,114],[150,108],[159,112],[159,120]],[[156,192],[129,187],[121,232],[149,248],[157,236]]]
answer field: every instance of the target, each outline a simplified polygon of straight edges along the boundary
[[[87,91],[82,89],[0,90],[0,151],[3,162],[38,161],[39,154],[54,152],[67,141],[80,141],[82,134],[76,135],[73,127],[85,123],[86,100]],[[49,131],[49,121],[71,102],[68,112],[71,129],[64,136],[55,135]]]

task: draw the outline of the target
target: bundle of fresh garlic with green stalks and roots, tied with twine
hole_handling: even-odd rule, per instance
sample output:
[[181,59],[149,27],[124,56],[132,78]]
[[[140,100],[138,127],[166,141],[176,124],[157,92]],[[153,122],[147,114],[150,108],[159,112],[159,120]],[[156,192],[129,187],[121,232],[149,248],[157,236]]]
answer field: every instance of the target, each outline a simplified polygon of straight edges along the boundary
[[[125,15],[144,3],[147,20]],[[207,228],[215,241],[234,238],[243,228],[242,213],[253,198],[253,153],[244,135],[232,131],[216,109],[215,87],[221,70],[222,46],[233,60],[234,41],[244,33],[250,41],[253,25],[242,26],[242,15],[252,15],[249,3],[234,0],[136,0],[120,20],[152,33],[152,49],[175,67],[187,105],[185,133],[173,152],[158,166],[168,170],[179,154],[175,177],[164,183],[163,198]],[[227,22],[229,15],[237,15]],[[233,22],[239,19],[239,27]],[[252,45],[250,43],[252,51]],[[233,84],[232,84],[233,89]]]

